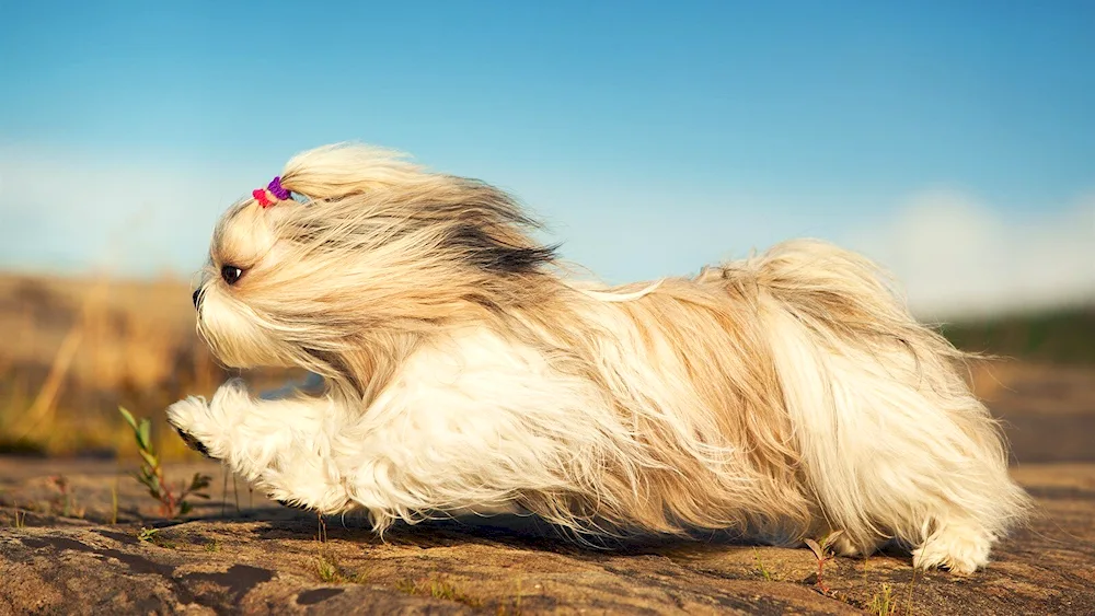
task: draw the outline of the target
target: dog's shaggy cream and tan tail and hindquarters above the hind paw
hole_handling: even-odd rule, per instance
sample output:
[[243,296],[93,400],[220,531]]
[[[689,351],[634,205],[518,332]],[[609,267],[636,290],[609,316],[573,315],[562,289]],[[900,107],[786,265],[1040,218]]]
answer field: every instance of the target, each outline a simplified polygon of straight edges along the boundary
[[869,549],[950,523],[999,536],[1022,515],[1002,434],[964,379],[968,356],[918,323],[876,265],[795,241],[722,271],[756,286],[804,480],[832,530]]

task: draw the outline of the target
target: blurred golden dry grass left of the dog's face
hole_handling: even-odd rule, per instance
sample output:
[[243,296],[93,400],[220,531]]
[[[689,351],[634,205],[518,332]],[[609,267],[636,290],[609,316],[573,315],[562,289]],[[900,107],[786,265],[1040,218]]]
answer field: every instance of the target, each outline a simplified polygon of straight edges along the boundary
[[[189,295],[173,278],[0,275],[0,453],[135,457],[119,405],[163,426],[172,402],[211,394],[229,373],[198,340]],[[165,430],[152,439],[164,458],[196,455]]]

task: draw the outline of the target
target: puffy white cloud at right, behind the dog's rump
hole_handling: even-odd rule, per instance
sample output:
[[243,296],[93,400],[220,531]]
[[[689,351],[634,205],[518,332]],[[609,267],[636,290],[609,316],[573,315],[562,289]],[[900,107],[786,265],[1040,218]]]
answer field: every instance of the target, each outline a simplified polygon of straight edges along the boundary
[[930,191],[845,243],[887,266],[927,318],[1095,302],[1095,195],[1007,214],[961,193]]

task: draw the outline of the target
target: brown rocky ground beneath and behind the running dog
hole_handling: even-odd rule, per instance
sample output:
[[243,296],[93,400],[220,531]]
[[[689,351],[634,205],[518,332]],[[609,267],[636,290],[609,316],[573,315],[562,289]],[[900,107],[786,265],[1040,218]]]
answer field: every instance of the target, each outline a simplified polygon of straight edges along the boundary
[[[0,614],[1095,614],[1095,380],[1022,371],[1010,425],[1029,527],[969,577],[908,555],[838,558],[726,538],[579,548],[534,520],[399,527],[280,508],[212,463],[212,499],[165,521],[130,461],[0,458]],[[1040,431],[1040,432],[1039,432]]]

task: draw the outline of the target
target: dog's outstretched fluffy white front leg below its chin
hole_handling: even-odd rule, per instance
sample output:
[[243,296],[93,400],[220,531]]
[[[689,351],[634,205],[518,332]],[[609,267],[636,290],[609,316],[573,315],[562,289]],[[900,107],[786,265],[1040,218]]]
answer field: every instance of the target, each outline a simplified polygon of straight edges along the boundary
[[208,403],[188,397],[168,421],[197,451],[221,460],[269,498],[323,513],[350,505],[332,451],[343,417],[327,397],[253,398],[232,380]]

